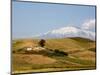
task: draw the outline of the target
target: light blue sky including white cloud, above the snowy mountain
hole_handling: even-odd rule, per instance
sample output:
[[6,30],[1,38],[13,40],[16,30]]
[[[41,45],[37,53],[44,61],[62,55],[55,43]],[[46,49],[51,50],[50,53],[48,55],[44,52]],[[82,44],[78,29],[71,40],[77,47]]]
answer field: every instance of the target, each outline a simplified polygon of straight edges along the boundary
[[95,31],[95,6],[12,2],[12,38],[31,38],[74,26]]

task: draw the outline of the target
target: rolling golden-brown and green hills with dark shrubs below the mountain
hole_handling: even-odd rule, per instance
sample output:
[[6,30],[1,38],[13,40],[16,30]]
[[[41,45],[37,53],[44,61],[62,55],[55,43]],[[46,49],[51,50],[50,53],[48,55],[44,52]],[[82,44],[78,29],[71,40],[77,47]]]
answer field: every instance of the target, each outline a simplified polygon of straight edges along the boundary
[[[79,37],[46,39],[43,48],[38,47],[38,42],[38,39],[12,41],[13,73],[96,68],[95,41]],[[27,47],[33,50],[27,51]]]

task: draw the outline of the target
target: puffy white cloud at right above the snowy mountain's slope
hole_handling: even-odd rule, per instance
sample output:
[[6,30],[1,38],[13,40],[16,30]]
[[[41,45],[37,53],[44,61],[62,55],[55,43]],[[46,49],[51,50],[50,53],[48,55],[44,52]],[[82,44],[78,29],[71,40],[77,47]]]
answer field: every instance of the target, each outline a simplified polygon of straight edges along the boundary
[[84,22],[81,28],[85,30],[95,30],[95,19]]

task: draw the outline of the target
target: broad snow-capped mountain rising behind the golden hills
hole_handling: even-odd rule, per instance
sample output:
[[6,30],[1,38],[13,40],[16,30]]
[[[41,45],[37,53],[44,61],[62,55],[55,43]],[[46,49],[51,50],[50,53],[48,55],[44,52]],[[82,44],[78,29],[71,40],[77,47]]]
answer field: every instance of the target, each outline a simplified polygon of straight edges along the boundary
[[44,34],[36,36],[37,38],[46,39],[46,38],[66,38],[66,37],[82,37],[95,40],[95,33],[76,27],[63,27],[55,29]]

